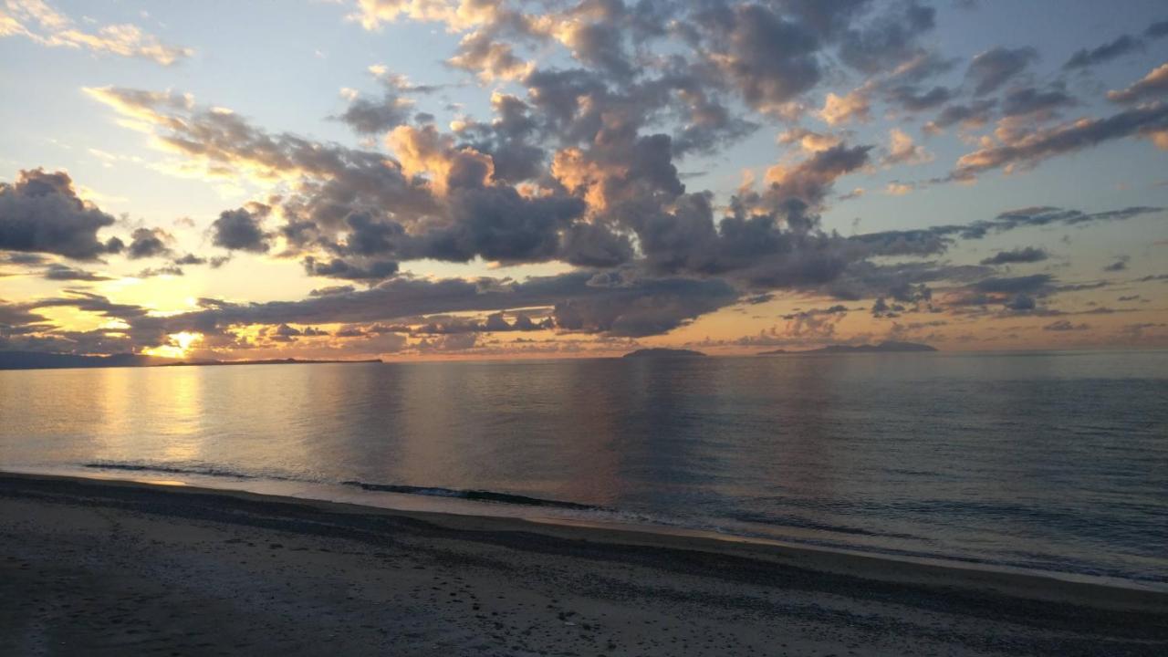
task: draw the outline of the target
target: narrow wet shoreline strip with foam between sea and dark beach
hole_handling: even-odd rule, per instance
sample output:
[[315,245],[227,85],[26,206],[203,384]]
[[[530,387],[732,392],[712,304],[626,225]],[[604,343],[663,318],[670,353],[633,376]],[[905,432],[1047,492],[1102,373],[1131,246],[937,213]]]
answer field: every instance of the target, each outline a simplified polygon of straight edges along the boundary
[[[717,554],[794,567],[815,573],[862,578],[894,585],[929,585],[993,593],[1044,602],[1073,603],[1111,610],[1142,610],[1168,614],[1168,590],[1141,582],[1115,580],[1075,573],[1024,570],[1006,566],[929,558],[885,555],[854,549],[820,547],[758,537],[717,533],[674,526],[651,526],[563,517],[492,516],[398,509],[362,502],[321,499],[293,495],[273,495],[241,489],[220,489],[166,482],[55,475],[32,471],[0,470],[0,484],[6,479],[71,483],[111,490],[128,489],[161,495],[201,496],[232,500],[287,505],[329,513],[380,516],[426,523],[459,532],[523,533],[545,538],[586,541],[600,546],[645,547],[665,551],[688,551]],[[354,499],[369,496],[353,495]],[[479,504],[481,503],[473,503]],[[425,506],[425,505],[419,505]]]

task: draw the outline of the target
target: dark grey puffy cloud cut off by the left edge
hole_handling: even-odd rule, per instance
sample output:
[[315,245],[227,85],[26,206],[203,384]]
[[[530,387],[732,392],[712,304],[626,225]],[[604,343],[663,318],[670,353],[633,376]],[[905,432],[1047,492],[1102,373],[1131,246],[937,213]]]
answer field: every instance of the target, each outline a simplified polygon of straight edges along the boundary
[[0,182],[0,250],[57,254],[95,260],[118,253],[117,237],[102,242],[97,231],[114,219],[77,196],[65,172],[21,171],[15,182]]

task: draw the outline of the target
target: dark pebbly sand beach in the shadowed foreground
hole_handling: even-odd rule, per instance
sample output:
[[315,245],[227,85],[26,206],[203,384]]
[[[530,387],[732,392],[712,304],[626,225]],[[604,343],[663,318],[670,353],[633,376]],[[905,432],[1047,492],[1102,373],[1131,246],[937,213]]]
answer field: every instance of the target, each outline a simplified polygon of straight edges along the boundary
[[1168,655],[1168,595],[0,475],[0,655]]

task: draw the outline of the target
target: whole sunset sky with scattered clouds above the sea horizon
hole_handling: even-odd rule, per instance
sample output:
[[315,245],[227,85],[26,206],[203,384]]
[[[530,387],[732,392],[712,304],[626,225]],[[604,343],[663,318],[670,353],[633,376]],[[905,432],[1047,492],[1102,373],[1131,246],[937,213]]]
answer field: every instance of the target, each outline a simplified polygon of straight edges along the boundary
[[1168,346],[1168,7],[0,0],[0,350]]

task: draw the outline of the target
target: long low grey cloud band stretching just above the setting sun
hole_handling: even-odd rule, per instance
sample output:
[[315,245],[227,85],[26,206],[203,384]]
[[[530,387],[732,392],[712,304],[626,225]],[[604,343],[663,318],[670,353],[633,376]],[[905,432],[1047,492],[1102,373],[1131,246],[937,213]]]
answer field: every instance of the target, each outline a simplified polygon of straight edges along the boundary
[[[317,324],[347,325],[346,334],[381,334],[406,332],[420,334],[457,333],[465,331],[535,331],[551,330],[561,333],[588,333],[609,337],[645,337],[661,334],[737,302],[739,292],[722,281],[687,277],[645,278],[633,272],[613,272],[597,277],[590,272],[572,272],[551,277],[529,278],[516,283],[510,279],[484,278],[478,281],[390,278],[368,290],[338,288],[311,295],[297,302],[267,302],[234,304],[220,299],[199,299],[199,309],[159,316],[133,304],[113,303],[100,295],[67,290],[61,296],[33,299],[23,304],[0,304],[4,334],[37,333],[54,340],[78,338],[72,332],[47,325],[35,311],[48,307],[74,307],[117,319],[127,327],[120,328],[116,345],[88,345],[92,351],[117,348],[140,350],[168,344],[173,333],[199,332],[204,346],[241,348],[239,331],[259,326],[267,341],[320,336],[320,332],[297,326]],[[543,309],[530,311],[523,309]],[[459,325],[460,320],[413,320],[410,318],[444,313],[487,312],[485,320],[474,325]],[[503,320],[501,312],[515,317]],[[531,314],[542,317],[540,321]],[[381,324],[381,323],[388,323]],[[419,326],[434,324],[432,327]],[[281,326],[287,326],[283,328]],[[86,339],[96,339],[89,336]],[[396,351],[404,341],[390,340]],[[378,344],[388,348],[390,343]],[[100,348],[99,348],[100,347]],[[371,346],[369,347],[371,348]],[[64,351],[71,351],[65,347]]]

